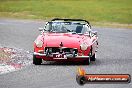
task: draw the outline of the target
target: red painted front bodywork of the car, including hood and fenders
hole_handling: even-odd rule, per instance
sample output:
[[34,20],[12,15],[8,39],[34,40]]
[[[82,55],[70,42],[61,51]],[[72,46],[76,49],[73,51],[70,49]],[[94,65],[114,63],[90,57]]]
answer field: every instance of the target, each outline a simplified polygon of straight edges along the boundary
[[[92,41],[96,40],[97,37],[88,37],[88,36],[84,36],[84,35],[77,35],[77,34],[64,34],[64,33],[45,33],[43,35],[39,35],[38,40],[43,41],[43,47],[39,48],[36,46],[36,44],[34,43],[34,52],[38,52],[38,50],[44,50],[44,47],[48,46],[48,47],[59,47],[60,42],[64,43],[64,47],[68,47],[68,48],[77,48],[81,55],[82,52],[84,52],[84,55],[87,56],[88,53],[90,52],[91,47],[88,47],[87,50],[82,51],[80,50],[80,44],[83,41],[87,41],[87,44],[89,46],[93,46],[96,47],[96,42],[95,44],[92,44]],[[94,52],[93,52],[94,53]],[[37,58],[42,58],[44,60],[47,61],[81,61],[81,60],[85,60],[87,58],[77,58],[77,59],[62,59],[62,60],[58,60],[58,59],[53,59],[53,57],[46,57],[46,56],[36,56]]]

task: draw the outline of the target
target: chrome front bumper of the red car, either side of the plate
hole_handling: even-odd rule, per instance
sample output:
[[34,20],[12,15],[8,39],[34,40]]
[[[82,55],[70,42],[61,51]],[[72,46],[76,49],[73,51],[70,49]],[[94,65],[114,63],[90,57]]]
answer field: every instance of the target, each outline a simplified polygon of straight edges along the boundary
[[[46,56],[46,54],[41,54],[41,53],[33,53],[34,55],[38,55],[38,56]],[[50,55],[48,55],[47,57],[53,57],[53,54],[59,54],[59,53],[52,53]],[[67,58],[89,58],[89,56],[78,56],[77,54],[75,55],[75,57],[73,57],[72,54],[66,54]]]

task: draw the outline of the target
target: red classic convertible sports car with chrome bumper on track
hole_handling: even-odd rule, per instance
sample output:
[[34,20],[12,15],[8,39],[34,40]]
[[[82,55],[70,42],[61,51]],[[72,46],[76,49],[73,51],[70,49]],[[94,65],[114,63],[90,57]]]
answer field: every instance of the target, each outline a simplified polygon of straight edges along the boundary
[[47,22],[34,41],[33,64],[45,61],[83,61],[96,59],[98,36],[88,21],[55,18]]

